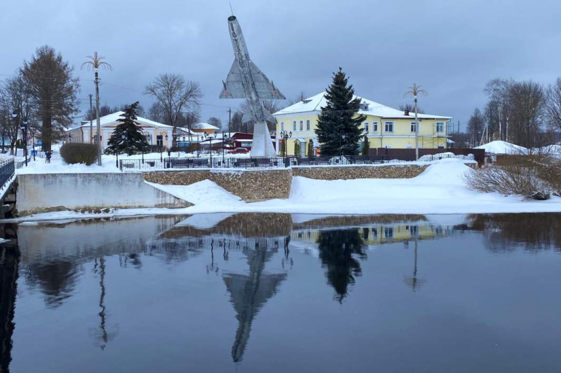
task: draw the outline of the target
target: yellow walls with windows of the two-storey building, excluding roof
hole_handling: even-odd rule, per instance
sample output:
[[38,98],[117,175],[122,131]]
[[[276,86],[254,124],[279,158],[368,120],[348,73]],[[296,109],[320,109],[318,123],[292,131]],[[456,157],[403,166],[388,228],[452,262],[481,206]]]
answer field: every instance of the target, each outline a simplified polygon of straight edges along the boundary
[[[306,120],[310,121],[310,129],[306,127]],[[302,121],[302,130],[300,122]],[[373,123],[377,122],[378,129],[374,132]],[[386,122],[393,122],[393,132],[385,131]],[[368,123],[368,139],[370,148],[414,148],[415,134],[411,132],[411,122],[414,119],[380,119],[374,115],[367,115],[366,120],[361,125],[364,128]],[[436,132],[436,122],[442,122],[443,132]],[[419,148],[446,148],[447,120],[424,119],[419,120]],[[288,140],[288,154],[294,155],[295,139],[315,139],[318,125],[318,115],[299,115],[292,117],[277,118],[277,133],[285,130],[292,132],[292,137]],[[295,129],[296,128],[296,129]]]

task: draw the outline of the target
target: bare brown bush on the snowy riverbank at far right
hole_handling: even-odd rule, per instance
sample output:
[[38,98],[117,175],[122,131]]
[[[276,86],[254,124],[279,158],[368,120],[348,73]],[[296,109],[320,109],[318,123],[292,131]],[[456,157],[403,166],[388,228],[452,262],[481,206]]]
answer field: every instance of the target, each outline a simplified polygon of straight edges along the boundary
[[520,195],[525,199],[549,199],[561,188],[561,165],[543,155],[528,155],[511,164],[491,164],[472,170],[465,181],[473,190]]

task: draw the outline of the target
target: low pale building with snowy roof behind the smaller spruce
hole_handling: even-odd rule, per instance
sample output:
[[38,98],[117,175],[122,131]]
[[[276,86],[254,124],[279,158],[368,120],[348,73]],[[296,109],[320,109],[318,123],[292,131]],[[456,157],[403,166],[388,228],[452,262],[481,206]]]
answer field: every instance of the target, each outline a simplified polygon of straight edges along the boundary
[[[100,118],[100,140],[101,146],[107,146],[107,141],[113,134],[115,127],[119,125],[117,121],[122,111],[117,111]],[[172,143],[173,127],[163,125],[162,123],[154,122],[146,118],[137,117],[137,124],[142,129],[142,133],[146,136],[148,143],[151,146],[158,146],[161,148],[168,148]],[[90,142],[90,121],[82,120],[81,125],[78,127],[65,131],[65,140],[69,143],[89,143]],[[97,143],[97,130],[93,127],[93,143]]]

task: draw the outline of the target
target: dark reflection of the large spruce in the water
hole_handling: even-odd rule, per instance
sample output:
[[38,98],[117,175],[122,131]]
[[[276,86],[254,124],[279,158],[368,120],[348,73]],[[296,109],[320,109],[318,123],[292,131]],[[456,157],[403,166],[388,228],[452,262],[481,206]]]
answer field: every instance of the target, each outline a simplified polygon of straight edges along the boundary
[[320,231],[318,249],[323,267],[327,268],[327,283],[335,289],[335,299],[340,303],[348,293],[349,285],[362,274],[360,262],[366,259],[364,241],[358,228]]

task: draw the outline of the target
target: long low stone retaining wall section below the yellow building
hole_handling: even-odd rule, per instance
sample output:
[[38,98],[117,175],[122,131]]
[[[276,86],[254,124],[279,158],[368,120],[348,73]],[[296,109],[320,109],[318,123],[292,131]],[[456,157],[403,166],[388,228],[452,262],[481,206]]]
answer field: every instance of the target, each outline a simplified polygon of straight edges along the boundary
[[349,180],[355,178],[414,178],[427,165],[417,166],[346,166],[346,167],[292,167],[292,176],[303,176],[318,180]]

